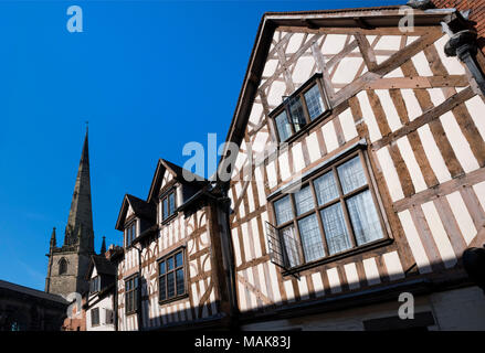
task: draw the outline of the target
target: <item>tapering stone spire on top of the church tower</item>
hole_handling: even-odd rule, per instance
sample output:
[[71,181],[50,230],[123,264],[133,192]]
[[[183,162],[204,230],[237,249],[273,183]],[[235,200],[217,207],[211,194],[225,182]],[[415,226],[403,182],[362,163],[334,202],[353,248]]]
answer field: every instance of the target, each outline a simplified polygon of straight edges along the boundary
[[83,152],[81,153],[76,183],[74,185],[64,245],[73,245],[78,242],[82,249],[92,253],[94,252],[94,237],[87,132],[86,127],[86,136],[84,138]]

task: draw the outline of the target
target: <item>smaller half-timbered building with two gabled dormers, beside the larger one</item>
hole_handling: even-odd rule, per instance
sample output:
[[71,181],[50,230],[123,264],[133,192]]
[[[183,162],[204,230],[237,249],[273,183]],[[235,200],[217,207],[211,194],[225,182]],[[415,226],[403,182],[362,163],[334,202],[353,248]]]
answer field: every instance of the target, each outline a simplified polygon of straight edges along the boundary
[[[126,195],[116,228],[118,329],[229,324],[228,274],[211,184],[160,159],[146,201]],[[225,261],[225,264],[228,264]]]

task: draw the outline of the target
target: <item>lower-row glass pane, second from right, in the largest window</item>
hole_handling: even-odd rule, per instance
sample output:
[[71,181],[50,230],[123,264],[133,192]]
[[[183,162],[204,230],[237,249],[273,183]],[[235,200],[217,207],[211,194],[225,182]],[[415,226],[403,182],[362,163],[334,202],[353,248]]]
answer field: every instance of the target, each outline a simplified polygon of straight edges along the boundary
[[324,223],[325,237],[327,238],[330,255],[351,247],[340,203],[321,210],[321,222]]

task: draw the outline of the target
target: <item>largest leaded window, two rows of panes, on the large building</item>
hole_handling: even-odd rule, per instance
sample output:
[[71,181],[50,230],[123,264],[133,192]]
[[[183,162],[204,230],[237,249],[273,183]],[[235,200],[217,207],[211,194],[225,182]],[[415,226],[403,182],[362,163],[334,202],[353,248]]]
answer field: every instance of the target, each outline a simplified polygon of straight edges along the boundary
[[296,267],[384,237],[362,151],[273,202],[287,267]]

